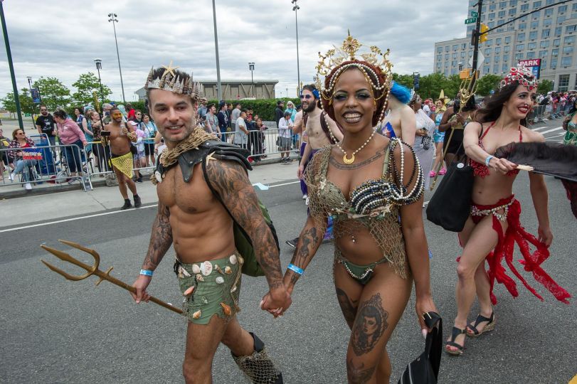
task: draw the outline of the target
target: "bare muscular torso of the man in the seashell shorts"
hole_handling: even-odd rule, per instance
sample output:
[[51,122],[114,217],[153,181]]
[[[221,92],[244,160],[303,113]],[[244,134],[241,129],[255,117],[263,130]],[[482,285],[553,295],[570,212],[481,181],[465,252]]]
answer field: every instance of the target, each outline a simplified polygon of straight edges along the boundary
[[[217,161],[217,160],[214,160]],[[169,208],[174,250],[184,263],[214,260],[235,250],[233,220],[204,181],[202,164],[184,182],[179,165],[157,184],[159,203]]]

